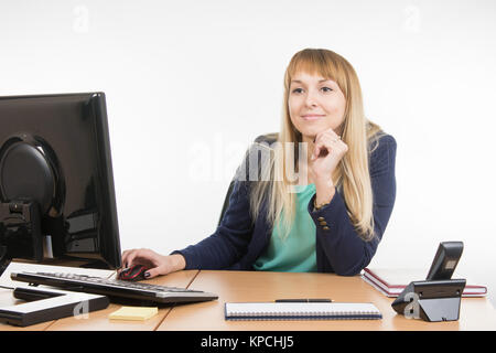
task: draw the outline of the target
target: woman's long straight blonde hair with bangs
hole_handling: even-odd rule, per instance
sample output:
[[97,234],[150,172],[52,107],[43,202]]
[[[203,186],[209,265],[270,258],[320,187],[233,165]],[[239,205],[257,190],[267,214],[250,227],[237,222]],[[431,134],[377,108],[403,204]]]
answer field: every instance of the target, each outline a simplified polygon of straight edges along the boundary
[[[282,226],[284,235],[291,229],[295,215],[295,194],[290,188],[293,181],[284,171],[288,163],[298,169],[299,142],[301,133],[291,122],[289,114],[290,83],[296,73],[319,74],[337,83],[346,98],[342,140],[348,151],[334,171],[332,179],[336,188],[343,190],[349,218],[364,240],[371,240],[374,234],[373,191],[368,167],[371,140],[377,140],[381,130],[364,115],[362,88],[353,66],[341,55],[322,49],[305,49],[294,54],[284,75],[284,97],[282,124],[277,143],[269,147],[268,164],[261,170],[261,180],[250,191],[250,211],[256,220],[263,208],[267,221],[273,226]],[[289,142],[289,143],[288,143]],[[261,146],[265,148],[266,146]],[[377,147],[377,146],[376,146]],[[294,160],[288,159],[293,156]]]

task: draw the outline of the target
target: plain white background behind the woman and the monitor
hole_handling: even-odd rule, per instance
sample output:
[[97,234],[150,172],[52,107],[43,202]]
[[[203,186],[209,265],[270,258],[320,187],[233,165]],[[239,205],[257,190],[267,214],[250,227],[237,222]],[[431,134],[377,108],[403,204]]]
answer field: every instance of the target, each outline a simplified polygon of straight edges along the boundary
[[370,266],[459,272],[496,291],[496,2],[3,1],[0,95],[107,95],[122,249],[215,231],[244,150],[278,131],[291,56],[325,47],[398,142],[396,206]]

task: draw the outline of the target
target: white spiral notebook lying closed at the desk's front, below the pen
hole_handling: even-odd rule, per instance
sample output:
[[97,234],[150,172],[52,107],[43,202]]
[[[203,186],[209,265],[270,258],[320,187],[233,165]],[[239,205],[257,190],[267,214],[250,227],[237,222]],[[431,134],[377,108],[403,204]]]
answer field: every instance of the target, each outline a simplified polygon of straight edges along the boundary
[[373,303],[358,302],[226,302],[226,320],[375,320]]

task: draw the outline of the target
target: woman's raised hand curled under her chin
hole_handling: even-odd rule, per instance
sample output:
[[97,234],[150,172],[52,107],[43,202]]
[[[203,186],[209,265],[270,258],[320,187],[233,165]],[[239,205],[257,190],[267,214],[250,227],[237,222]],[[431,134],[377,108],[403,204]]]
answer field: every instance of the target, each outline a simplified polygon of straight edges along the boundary
[[311,157],[311,172],[314,182],[332,181],[334,170],[347,151],[348,146],[332,128],[319,132]]

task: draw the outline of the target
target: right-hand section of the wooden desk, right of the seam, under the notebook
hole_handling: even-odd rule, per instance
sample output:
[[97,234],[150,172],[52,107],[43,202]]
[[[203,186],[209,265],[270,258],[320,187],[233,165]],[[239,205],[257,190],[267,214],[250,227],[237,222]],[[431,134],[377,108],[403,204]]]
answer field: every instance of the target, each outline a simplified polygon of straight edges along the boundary
[[[397,314],[391,308],[393,299],[379,293],[359,276],[202,270],[190,288],[215,292],[219,299],[175,307],[158,330],[496,330],[496,312],[485,298],[463,298],[459,321],[425,322]],[[382,313],[382,319],[363,321],[226,321],[224,319],[225,302],[273,301],[279,298],[331,298],[334,301],[373,302]]]

